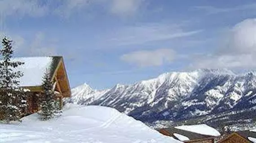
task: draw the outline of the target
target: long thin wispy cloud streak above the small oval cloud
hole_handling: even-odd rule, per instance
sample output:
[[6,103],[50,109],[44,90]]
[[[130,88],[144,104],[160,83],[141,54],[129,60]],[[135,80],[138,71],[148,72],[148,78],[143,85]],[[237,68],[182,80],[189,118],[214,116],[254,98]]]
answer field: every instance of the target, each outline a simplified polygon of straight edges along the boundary
[[185,31],[180,25],[147,24],[130,26],[114,31],[108,42],[117,45],[143,44],[146,42],[170,40],[189,37],[202,32],[202,29]]

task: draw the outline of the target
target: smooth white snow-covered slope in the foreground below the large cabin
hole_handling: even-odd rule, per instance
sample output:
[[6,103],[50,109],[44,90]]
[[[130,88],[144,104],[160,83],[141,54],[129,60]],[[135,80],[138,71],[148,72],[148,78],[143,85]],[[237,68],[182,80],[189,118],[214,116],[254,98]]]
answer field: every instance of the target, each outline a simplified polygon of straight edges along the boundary
[[67,104],[59,118],[38,117],[0,124],[0,143],[181,143],[108,107]]

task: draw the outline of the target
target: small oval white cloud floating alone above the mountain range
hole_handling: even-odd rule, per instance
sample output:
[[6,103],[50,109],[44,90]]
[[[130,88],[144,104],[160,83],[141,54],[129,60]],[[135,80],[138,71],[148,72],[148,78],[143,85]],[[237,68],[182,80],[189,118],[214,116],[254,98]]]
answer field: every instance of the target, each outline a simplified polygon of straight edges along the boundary
[[163,63],[171,63],[176,56],[172,49],[140,50],[120,57],[121,60],[136,64],[139,67],[161,66]]

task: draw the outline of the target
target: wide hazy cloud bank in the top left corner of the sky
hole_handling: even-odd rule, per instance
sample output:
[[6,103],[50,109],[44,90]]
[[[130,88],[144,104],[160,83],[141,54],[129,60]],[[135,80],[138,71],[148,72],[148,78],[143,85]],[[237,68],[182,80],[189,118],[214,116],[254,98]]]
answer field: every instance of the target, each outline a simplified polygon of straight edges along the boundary
[[[70,17],[70,15],[86,5],[92,4],[93,0],[1,0],[1,17],[42,17],[46,15],[58,15]],[[98,1],[98,0],[94,0]],[[93,1],[93,2],[94,2]]]

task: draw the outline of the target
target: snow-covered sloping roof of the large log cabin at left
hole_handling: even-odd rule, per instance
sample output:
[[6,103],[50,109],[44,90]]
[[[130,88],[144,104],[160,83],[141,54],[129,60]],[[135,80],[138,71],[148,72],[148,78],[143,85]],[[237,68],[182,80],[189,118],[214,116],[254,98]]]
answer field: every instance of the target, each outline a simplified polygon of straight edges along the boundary
[[40,86],[45,71],[49,70],[48,72],[52,77],[61,59],[61,56],[13,58],[13,61],[24,62],[23,65],[18,67],[18,70],[23,72],[23,76],[19,79],[20,86]]

